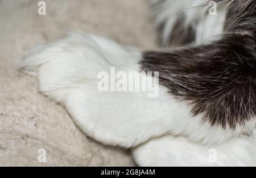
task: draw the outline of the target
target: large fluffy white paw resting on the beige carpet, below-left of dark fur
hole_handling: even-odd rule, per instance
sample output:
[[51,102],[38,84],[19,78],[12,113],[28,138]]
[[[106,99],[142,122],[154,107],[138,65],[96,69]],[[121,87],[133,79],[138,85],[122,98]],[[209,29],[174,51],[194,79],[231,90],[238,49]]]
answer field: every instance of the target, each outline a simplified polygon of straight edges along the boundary
[[131,147],[167,131],[156,124],[163,106],[147,92],[101,92],[97,76],[112,66],[137,71],[140,58],[137,50],[104,37],[72,34],[36,48],[22,69],[38,77],[39,90],[63,104],[85,134]]

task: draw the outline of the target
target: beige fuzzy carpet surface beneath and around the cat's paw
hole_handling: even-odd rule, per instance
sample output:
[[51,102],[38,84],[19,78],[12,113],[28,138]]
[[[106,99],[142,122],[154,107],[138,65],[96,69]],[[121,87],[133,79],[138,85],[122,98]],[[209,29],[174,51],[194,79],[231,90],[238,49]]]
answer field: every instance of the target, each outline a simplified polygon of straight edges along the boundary
[[[154,48],[147,0],[0,0],[0,166],[133,166],[129,151],[87,138],[63,107],[19,73],[28,49],[69,31],[112,37],[122,44]],[[38,150],[46,150],[46,163]]]

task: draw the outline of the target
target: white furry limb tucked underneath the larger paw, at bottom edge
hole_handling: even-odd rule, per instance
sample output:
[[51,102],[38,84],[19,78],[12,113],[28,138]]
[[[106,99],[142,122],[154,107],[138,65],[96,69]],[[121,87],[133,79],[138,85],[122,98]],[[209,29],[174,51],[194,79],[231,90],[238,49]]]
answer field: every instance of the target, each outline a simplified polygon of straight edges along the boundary
[[242,136],[217,146],[203,146],[166,135],[133,150],[140,166],[256,166],[255,139]]

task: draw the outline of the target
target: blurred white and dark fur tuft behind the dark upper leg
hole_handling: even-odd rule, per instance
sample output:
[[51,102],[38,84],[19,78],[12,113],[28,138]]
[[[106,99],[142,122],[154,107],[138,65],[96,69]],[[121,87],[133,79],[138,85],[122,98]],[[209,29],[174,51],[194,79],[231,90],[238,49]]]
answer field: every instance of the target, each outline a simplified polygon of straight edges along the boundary
[[152,1],[153,18],[161,46],[207,43],[221,35],[226,9],[218,3],[216,15],[209,15],[208,0]]

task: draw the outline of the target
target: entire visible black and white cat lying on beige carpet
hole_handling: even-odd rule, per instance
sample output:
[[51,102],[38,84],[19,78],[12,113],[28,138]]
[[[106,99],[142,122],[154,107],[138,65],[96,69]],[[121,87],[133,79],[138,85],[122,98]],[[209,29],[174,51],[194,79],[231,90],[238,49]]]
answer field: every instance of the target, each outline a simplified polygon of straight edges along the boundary
[[[216,2],[211,16],[207,0],[152,1],[161,44],[180,49],[143,52],[73,33],[36,48],[22,69],[85,134],[133,148],[139,166],[256,166],[255,0]],[[97,74],[112,66],[159,71],[158,98],[98,91]]]

